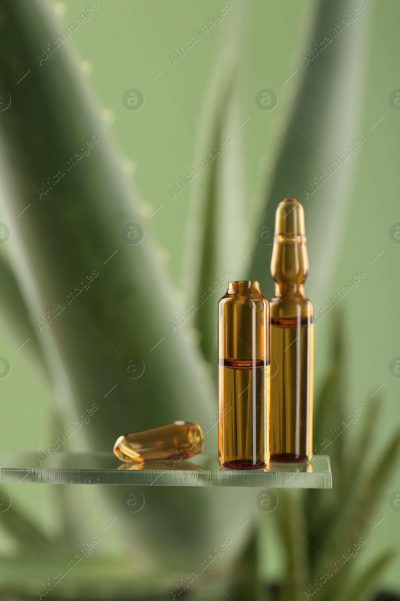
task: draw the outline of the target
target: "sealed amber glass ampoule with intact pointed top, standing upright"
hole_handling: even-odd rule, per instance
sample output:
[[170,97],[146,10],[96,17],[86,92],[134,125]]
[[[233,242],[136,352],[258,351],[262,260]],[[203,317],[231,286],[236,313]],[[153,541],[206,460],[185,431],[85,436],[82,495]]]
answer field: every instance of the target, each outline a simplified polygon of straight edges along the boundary
[[[303,207],[285,198],[276,209],[271,273],[270,356],[278,371],[270,379],[270,456],[272,461],[312,456],[314,324],[305,297],[308,257]],[[274,369],[275,371],[275,369]]]

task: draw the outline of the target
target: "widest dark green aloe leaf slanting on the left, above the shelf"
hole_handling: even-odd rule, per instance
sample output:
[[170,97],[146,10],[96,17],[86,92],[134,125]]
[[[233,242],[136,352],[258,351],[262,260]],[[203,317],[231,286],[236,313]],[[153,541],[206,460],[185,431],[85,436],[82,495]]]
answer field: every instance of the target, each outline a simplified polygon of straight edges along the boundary
[[[99,406],[76,444],[90,439],[91,448],[110,450],[126,430],[182,418],[206,423],[212,388],[196,351],[169,327],[172,295],[147,224],[143,242],[122,237],[126,224],[140,221],[136,199],[68,41],[40,62],[61,34],[55,20],[24,0],[2,2],[1,17],[10,52],[2,54],[0,82],[12,99],[0,115],[1,188],[15,232],[13,269],[32,323],[43,326],[38,335],[65,419]],[[130,379],[129,361],[138,358],[145,371]]]

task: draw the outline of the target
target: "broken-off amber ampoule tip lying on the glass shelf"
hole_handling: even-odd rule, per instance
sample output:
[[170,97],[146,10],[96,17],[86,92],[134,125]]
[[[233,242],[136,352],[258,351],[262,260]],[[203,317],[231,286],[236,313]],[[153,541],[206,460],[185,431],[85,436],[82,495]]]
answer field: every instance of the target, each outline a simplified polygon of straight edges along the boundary
[[203,432],[199,424],[175,421],[173,424],[119,436],[114,453],[128,463],[181,459],[203,451]]

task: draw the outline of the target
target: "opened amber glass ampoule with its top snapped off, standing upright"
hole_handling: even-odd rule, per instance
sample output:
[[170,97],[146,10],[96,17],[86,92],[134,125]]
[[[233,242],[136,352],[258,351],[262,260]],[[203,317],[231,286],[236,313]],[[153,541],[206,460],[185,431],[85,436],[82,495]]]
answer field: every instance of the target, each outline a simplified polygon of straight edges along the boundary
[[260,284],[229,282],[218,319],[219,464],[264,469],[269,463],[269,305]]

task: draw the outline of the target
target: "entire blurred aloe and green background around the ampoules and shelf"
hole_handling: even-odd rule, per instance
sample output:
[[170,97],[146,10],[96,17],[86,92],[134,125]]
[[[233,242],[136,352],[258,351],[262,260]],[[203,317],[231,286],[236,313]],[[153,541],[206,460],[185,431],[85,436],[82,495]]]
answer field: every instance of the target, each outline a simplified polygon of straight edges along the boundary
[[[182,415],[207,423],[223,291],[174,332],[170,323],[225,270],[271,296],[271,249],[256,231],[284,197],[305,208],[314,308],[347,290],[315,328],[315,445],[365,406],[325,451],[333,489],[276,490],[272,513],[255,506],[257,490],[146,487],[143,510],[126,515],[121,487],[2,486],[12,503],[0,513],[1,594],[40,597],[93,537],[49,597],[178,596],[225,537],[223,556],[179,596],[355,601],[400,590],[400,512],[389,503],[400,488],[389,370],[399,353],[389,233],[400,221],[400,114],[389,102],[399,10],[394,0],[1,0],[0,108],[11,97],[0,111],[0,221],[11,232],[0,245],[0,355],[11,364],[1,450],[45,450],[93,403],[68,450],[109,451],[127,430]],[[55,49],[59,35],[68,40]],[[131,90],[144,96],[140,110],[128,109]],[[278,98],[272,110],[256,102],[264,90]],[[357,154],[321,183],[357,138]],[[122,234],[133,222],[139,245]],[[90,288],[39,331],[92,271]],[[128,380],[133,357],[145,373]],[[210,433],[206,450],[215,447]],[[359,538],[356,557],[315,585]]]

